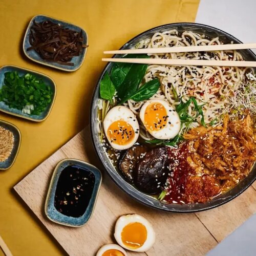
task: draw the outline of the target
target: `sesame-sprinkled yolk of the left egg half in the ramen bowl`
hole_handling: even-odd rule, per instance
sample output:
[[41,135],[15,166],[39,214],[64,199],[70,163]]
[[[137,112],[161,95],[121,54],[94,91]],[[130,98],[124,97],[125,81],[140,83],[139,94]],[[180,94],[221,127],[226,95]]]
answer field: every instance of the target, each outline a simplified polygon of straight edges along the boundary
[[[138,133],[138,131],[136,131],[136,133]],[[108,136],[112,143],[127,145],[134,139],[135,132],[132,125],[123,120],[118,120],[109,126]]]

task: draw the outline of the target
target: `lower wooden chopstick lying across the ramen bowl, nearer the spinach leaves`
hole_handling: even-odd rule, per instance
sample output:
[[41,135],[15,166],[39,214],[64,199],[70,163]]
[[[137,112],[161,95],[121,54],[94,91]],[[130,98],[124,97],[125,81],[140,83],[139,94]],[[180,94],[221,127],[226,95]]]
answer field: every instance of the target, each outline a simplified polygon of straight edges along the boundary
[[172,66],[256,67],[256,61],[234,61],[234,60],[102,58],[102,61],[142,63],[142,64],[150,64],[150,65],[172,65]]

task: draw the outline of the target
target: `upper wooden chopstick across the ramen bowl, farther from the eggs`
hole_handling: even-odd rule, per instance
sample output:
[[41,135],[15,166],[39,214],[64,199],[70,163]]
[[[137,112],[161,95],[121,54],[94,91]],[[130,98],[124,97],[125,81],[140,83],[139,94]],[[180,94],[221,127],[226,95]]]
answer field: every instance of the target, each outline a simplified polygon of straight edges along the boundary
[[127,53],[175,53],[175,52],[207,52],[220,50],[241,50],[254,49],[256,43],[248,44],[229,44],[229,45],[210,45],[210,46],[179,46],[179,47],[163,47],[163,48],[143,48],[129,50],[103,51],[104,54],[127,54]]

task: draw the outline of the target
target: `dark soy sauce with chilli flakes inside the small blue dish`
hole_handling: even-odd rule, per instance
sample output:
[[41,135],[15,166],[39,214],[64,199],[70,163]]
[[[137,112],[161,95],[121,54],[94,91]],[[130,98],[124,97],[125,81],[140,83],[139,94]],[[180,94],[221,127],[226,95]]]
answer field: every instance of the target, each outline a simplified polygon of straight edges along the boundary
[[54,206],[61,214],[81,217],[86,211],[95,184],[95,176],[76,165],[64,168],[59,176]]

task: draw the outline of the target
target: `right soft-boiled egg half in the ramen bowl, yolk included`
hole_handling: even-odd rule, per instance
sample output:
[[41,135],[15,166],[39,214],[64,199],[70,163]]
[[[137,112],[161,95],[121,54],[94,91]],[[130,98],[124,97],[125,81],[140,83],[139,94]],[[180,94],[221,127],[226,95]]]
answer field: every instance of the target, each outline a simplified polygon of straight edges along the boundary
[[146,130],[156,139],[174,138],[180,131],[180,118],[165,100],[147,100],[140,110],[140,119]]

